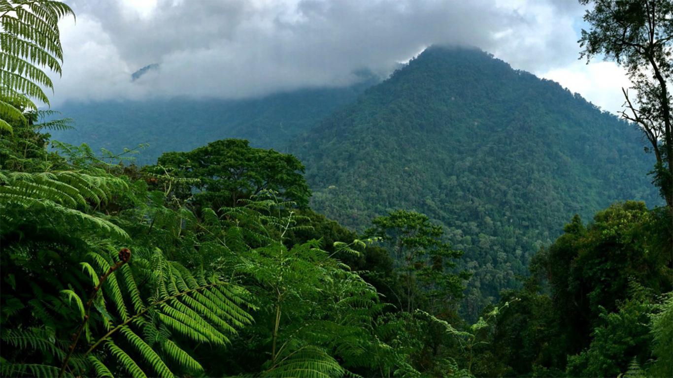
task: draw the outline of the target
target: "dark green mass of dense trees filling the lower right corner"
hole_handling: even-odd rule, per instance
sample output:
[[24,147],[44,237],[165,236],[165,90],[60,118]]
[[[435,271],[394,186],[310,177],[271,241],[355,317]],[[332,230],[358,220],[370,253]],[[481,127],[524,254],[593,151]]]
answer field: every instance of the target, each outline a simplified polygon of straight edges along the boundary
[[[666,313],[670,294],[663,304],[660,296],[672,289],[668,214],[624,202],[588,225],[573,217],[532,260],[524,290],[503,296],[521,301],[494,324],[490,344],[479,350],[479,373],[614,377],[634,358],[645,369],[664,367],[667,331],[651,327]],[[656,334],[666,352],[656,349]],[[661,360],[649,367],[653,356]]]

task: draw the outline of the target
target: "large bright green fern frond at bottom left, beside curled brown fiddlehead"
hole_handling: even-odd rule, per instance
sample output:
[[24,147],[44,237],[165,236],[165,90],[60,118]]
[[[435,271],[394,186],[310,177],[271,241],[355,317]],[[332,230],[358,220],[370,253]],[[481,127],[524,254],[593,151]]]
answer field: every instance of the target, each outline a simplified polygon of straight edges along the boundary
[[[100,272],[110,269],[114,263],[112,252],[107,255],[92,252],[89,256]],[[173,376],[167,361],[177,363],[186,371],[203,371],[198,361],[171,340],[170,335],[215,346],[229,344],[227,335],[236,334],[237,328],[252,323],[252,316],[244,309],[248,306],[245,292],[215,278],[195,277],[184,266],[167,261],[160,250],[155,250],[148,258],[138,256],[134,263],[149,264],[149,276],[137,276],[147,272],[134,272],[128,265],[122,266],[117,278],[108,276],[102,287],[102,297],[114,303],[121,323],[110,328],[87,353],[106,342],[116,364],[134,377],[149,373],[141,369],[141,365],[151,367],[149,375]],[[136,284],[139,279],[150,280],[155,287],[154,295],[149,298],[143,295]],[[133,312],[126,303],[131,303]],[[104,308],[105,303],[102,305]],[[116,338],[122,338],[123,342],[112,342]],[[131,350],[125,345],[132,346]],[[156,348],[157,345],[160,348]],[[143,363],[139,364],[139,360]],[[94,367],[102,369],[106,366]]]

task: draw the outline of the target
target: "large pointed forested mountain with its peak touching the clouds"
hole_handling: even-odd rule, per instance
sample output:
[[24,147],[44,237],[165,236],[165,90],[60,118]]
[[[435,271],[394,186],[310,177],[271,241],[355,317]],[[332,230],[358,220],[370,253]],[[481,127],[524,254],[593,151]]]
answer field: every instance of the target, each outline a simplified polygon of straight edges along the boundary
[[635,126],[481,50],[431,47],[295,139],[312,207],[363,229],[391,209],[446,226],[473,316],[530,257],[617,200],[660,204]]

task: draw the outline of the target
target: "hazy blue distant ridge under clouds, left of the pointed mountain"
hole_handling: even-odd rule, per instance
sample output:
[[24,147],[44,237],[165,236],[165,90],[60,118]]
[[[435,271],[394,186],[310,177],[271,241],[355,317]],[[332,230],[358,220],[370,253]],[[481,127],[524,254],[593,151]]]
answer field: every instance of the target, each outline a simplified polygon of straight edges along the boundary
[[[151,65],[139,72],[149,69]],[[57,110],[63,118],[73,118],[75,130],[52,136],[74,145],[87,143],[94,151],[117,152],[149,143],[135,155],[141,164],[155,163],[166,151],[189,151],[225,138],[279,149],[380,81],[367,71],[357,75],[361,80],[349,87],[299,89],[246,100],[69,102]]]

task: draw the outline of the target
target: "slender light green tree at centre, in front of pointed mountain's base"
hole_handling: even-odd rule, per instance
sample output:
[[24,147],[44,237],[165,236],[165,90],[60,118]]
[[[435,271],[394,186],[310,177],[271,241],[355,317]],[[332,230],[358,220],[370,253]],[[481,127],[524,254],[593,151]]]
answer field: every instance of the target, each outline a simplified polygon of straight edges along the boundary
[[[418,303],[417,294],[423,294],[426,308],[438,310],[459,299],[464,289],[466,272],[453,274],[452,260],[462,252],[452,250],[443,240],[441,226],[430,223],[427,216],[413,211],[398,210],[371,221],[374,227],[365,235],[380,237],[388,247],[396,270],[404,277],[406,312],[411,313]],[[436,313],[436,312],[435,312]]]

